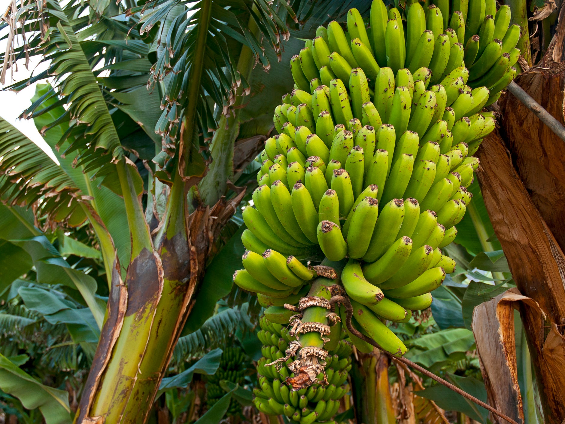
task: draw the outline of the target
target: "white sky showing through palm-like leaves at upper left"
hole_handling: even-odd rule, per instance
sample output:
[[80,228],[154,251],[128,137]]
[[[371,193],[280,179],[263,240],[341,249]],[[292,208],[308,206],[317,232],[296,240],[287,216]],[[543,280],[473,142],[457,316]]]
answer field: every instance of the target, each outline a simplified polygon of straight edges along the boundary
[[[3,12],[8,7],[10,0],[0,0],[0,13]],[[3,36],[6,31],[2,31],[0,36]],[[0,49],[2,51],[6,51],[6,40],[0,40]],[[35,71],[34,68],[37,67],[39,64],[39,58],[31,58],[29,63],[29,70],[25,68],[25,63],[23,60],[18,62],[18,72],[14,72],[14,79],[16,81],[20,81],[29,75],[31,75],[32,71],[37,73],[38,71],[45,70],[46,64],[40,64]],[[14,81],[11,79],[10,70],[6,73],[6,82],[5,85],[11,85]],[[3,86],[0,86],[0,89],[3,89]],[[21,112],[29,105],[31,105],[31,98],[35,93],[35,85],[30,85],[18,93],[11,92],[11,91],[0,91],[0,116],[4,118],[7,122],[12,124],[14,127],[18,128],[24,135],[29,137],[35,144],[40,146],[41,149],[45,150],[47,154],[50,155],[51,158],[54,159],[55,162],[58,162],[53,154],[53,150],[47,145],[43,137],[41,137],[40,133],[37,131],[32,120],[22,119],[19,120],[18,116],[20,116]]]

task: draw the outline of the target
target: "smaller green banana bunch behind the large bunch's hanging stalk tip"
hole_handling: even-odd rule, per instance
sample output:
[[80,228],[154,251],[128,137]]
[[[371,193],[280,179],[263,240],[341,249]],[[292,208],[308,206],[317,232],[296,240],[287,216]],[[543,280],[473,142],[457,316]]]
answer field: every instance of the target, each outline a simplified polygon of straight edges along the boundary
[[[257,364],[259,387],[254,389],[255,406],[268,415],[284,415],[291,422],[311,424],[323,421],[334,424],[331,419],[340,407],[340,399],[350,391],[347,376],[351,369],[351,344],[341,337],[329,351],[325,358],[328,384],[312,384],[291,391],[284,380],[294,375],[287,366],[292,360],[282,362],[279,367],[266,364],[284,358],[289,344],[297,339],[289,334],[288,328],[270,321],[267,316],[278,321],[281,318],[277,312],[267,309],[266,315],[259,319],[262,330],[258,332],[258,338],[263,343],[263,357]],[[319,379],[323,380],[323,375],[320,374]]]

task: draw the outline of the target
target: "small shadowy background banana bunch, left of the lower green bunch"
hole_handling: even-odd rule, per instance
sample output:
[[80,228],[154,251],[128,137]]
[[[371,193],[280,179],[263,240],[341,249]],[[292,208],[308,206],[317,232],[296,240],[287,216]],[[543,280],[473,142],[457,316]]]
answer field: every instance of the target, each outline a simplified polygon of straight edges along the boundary
[[[206,405],[208,409],[225,395],[224,389],[220,387],[221,380],[228,380],[243,386],[245,375],[250,368],[249,358],[240,347],[225,347],[221,353],[218,370],[214,375],[208,377],[206,383]],[[241,413],[241,405],[236,400],[232,400],[228,408],[228,416],[234,416],[238,413]]]

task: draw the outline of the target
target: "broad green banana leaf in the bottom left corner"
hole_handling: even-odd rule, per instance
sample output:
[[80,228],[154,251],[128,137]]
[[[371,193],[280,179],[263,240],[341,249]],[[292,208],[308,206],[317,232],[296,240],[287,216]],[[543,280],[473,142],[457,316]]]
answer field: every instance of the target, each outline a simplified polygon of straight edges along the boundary
[[46,424],[72,422],[66,391],[44,386],[2,354],[0,354],[0,389],[17,397],[27,409],[39,408]]

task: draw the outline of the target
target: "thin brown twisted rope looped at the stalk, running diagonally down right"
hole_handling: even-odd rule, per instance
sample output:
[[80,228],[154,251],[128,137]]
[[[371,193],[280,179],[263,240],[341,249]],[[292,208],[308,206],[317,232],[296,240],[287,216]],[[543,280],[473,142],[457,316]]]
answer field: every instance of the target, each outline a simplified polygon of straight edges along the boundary
[[[351,303],[349,302],[349,298],[347,298],[346,296],[333,296],[330,300],[329,300],[330,304],[332,304],[332,308],[335,306],[336,303],[341,303],[345,306],[347,313],[346,313],[346,327],[347,330],[349,330],[349,332],[351,334],[353,334],[354,336],[358,337],[359,339],[366,341],[367,343],[370,343],[371,345],[373,345],[374,347],[376,347],[377,349],[379,349],[380,351],[383,351],[386,354],[390,354],[388,352],[385,351],[385,349],[381,348],[379,343],[377,343],[375,340],[368,338],[366,335],[362,334],[361,332],[357,331],[353,325],[351,325],[351,317],[353,317],[353,307],[351,306]],[[442,379],[441,377],[438,377],[436,374],[431,373],[430,371],[428,371],[427,369],[424,369],[423,367],[421,367],[418,364],[415,364],[414,362],[410,361],[409,359],[405,358],[405,357],[400,357],[397,358],[395,357],[396,360],[402,362],[403,364],[406,364],[407,366],[412,367],[413,369],[415,369],[416,371],[419,371],[420,373],[424,374],[426,377],[431,378],[432,380],[435,380],[436,382],[442,384],[442,386],[445,386],[447,388],[449,388],[450,390],[453,390],[455,393],[459,393],[459,395],[463,396],[465,399],[470,400],[473,403],[476,403],[479,406],[483,406],[483,408],[488,409],[490,412],[492,412],[494,415],[505,419],[506,421],[512,423],[512,424],[519,424],[518,422],[514,421],[514,419],[506,416],[505,414],[503,414],[502,412],[500,412],[497,409],[494,409],[492,406],[485,404],[482,400],[477,399],[474,396],[471,396],[469,393],[464,392],[463,390],[461,390],[458,387],[455,387],[453,384],[451,384],[450,382],[447,382],[446,380]]]

